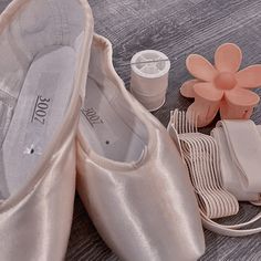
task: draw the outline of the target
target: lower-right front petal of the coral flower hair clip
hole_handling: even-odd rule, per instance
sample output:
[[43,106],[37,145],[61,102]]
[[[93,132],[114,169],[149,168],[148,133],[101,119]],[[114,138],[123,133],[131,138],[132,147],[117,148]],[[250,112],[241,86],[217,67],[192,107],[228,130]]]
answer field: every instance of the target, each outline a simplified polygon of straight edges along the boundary
[[225,92],[225,100],[229,105],[238,107],[251,107],[259,103],[260,97],[252,91],[234,87]]

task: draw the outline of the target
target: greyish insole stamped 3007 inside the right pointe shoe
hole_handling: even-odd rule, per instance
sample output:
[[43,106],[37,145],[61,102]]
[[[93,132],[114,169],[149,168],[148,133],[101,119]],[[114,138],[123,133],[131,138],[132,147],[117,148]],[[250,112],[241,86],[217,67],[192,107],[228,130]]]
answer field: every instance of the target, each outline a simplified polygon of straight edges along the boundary
[[109,86],[100,86],[95,80],[87,79],[82,108],[84,117],[81,117],[85,138],[103,157],[123,163],[136,161],[143,155],[145,143],[135,132],[138,123],[134,115],[132,117],[116,106],[121,96],[115,94]]

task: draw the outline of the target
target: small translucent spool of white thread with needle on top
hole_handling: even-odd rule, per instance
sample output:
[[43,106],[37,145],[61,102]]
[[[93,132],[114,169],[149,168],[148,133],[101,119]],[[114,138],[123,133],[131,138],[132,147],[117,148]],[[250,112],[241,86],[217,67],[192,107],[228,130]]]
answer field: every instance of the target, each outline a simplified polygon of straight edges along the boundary
[[155,50],[136,53],[130,61],[130,92],[150,112],[160,108],[168,87],[168,58]]

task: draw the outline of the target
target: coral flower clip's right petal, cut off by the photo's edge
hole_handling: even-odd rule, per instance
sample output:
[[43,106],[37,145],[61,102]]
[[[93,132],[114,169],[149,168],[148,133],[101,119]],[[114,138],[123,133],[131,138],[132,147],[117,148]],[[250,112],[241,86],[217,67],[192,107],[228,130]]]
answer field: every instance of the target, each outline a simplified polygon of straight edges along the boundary
[[261,64],[248,66],[236,74],[238,85],[253,88],[261,85]]

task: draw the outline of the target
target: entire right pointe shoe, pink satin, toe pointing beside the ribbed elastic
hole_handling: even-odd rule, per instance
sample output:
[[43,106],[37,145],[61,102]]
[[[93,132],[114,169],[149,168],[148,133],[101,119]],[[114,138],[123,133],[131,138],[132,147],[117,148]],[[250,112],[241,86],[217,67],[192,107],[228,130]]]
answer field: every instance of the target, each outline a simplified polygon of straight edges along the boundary
[[77,139],[77,190],[122,260],[187,261],[203,253],[196,197],[179,153],[125,90],[111,43],[98,35]]

